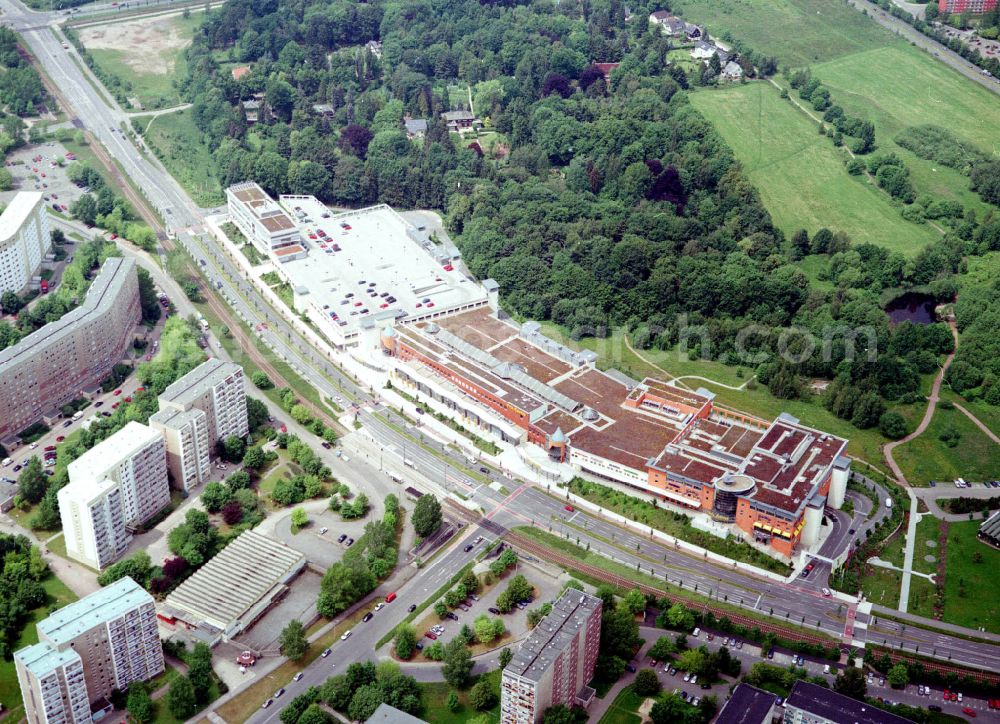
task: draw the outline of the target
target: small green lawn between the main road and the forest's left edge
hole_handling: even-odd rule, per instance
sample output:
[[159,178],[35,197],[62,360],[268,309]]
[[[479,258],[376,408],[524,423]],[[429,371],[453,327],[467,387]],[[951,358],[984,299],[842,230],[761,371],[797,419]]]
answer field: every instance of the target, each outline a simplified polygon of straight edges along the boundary
[[207,207],[224,201],[212,152],[194,125],[190,111],[155,118],[147,127],[145,138],[195,203]]

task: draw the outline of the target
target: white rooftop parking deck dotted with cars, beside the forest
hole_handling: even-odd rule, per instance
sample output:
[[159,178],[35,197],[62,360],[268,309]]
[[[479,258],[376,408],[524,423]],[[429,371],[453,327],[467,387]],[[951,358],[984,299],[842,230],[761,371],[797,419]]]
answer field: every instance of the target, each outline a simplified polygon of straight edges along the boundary
[[312,196],[282,196],[280,201],[297,219],[309,254],[281,264],[279,271],[288,275],[293,288],[308,290],[305,299],[341,335],[353,335],[376,316],[412,319],[486,302],[479,283],[457,269],[445,271],[418,241],[423,232],[388,206],[334,214]]

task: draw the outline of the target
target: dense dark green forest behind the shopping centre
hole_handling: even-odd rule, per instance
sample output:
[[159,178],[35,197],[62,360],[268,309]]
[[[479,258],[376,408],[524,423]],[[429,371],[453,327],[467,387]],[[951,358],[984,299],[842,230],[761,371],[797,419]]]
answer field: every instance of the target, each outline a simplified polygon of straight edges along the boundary
[[[879,424],[885,401],[915,399],[919,374],[952,346],[943,324],[891,327],[886,294],[920,286],[950,300],[963,257],[1000,249],[1000,221],[950,214],[942,240],[911,259],[836,230],[785,238],[688,102],[687,89],[721,82],[718,63],[668,62],[675,41],[646,20],[663,7],[627,17],[619,0],[230,0],[196,36],[182,90],[224,185],[441,209],[470,269],[494,277],[515,314],[575,336],[625,325],[637,345],[664,349],[694,329],[690,354],[756,367],[784,398],[833,380],[831,410]],[[777,69],[737,49],[746,75]],[[235,65],[250,70],[236,80]],[[254,124],[250,99],[261,101]],[[440,114],[470,100],[483,132],[463,140]],[[427,120],[423,138],[407,137],[406,118]],[[824,255],[824,291],[797,264],[810,254]],[[841,334],[826,355],[786,361],[791,328]],[[981,372],[985,394],[994,376]]]

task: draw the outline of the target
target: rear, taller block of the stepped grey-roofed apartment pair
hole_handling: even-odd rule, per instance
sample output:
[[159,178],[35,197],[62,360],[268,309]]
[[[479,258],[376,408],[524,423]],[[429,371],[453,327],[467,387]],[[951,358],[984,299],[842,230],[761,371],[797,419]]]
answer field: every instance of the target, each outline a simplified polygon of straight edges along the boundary
[[210,454],[220,440],[250,432],[243,368],[232,362],[204,362],[164,390],[159,401],[161,412],[205,413]]

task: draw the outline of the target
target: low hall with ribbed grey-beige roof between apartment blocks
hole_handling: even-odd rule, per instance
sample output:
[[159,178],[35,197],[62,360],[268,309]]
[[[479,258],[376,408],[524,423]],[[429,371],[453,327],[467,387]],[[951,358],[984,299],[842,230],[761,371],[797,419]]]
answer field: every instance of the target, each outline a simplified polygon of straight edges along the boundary
[[306,558],[273,538],[245,531],[170,595],[160,611],[213,643],[250,628],[287,591]]

